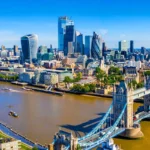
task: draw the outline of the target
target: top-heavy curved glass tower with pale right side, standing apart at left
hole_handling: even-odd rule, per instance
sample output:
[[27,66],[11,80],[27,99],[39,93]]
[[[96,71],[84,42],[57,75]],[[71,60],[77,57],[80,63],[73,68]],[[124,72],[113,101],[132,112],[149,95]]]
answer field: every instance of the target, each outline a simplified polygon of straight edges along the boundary
[[38,36],[36,34],[29,34],[21,37],[21,46],[24,62],[34,62],[37,59]]

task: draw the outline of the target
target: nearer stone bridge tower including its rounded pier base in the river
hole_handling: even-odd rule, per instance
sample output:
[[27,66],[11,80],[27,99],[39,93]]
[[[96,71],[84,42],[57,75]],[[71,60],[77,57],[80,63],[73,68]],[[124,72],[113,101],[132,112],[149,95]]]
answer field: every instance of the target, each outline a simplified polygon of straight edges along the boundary
[[[149,97],[150,100],[150,97]],[[126,111],[121,121],[121,126],[126,130],[120,135],[126,138],[140,138],[143,137],[140,126],[133,125],[133,89],[129,89],[124,80],[119,85],[114,87],[113,92],[113,114],[114,121],[119,117],[124,105],[127,104]]]

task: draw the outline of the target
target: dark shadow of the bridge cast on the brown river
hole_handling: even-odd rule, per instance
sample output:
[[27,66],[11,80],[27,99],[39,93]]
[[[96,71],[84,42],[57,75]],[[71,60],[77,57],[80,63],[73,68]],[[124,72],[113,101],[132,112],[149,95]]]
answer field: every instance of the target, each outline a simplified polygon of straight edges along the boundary
[[100,117],[97,117],[92,120],[88,120],[78,125],[66,124],[66,125],[60,125],[60,127],[74,133],[76,137],[81,137],[80,133],[83,133],[84,135],[89,133],[93,128],[96,127],[96,125],[100,122],[100,120],[103,118],[105,113],[98,113],[97,115],[99,115]]

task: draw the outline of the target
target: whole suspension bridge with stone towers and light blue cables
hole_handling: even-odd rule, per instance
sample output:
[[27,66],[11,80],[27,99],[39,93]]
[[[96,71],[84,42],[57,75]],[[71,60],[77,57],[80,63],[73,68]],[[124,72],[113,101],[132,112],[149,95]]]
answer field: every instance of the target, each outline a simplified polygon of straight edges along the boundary
[[[136,113],[138,117],[135,118],[133,103],[140,97],[144,97],[144,106]],[[125,81],[121,81],[114,86],[112,104],[95,128],[80,138],[74,138],[72,134],[65,137],[57,133],[51,149],[76,150],[80,146],[83,150],[90,150],[118,135],[140,138],[143,133],[139,123],[146,118],[150,118],[150,77],[145,78],[145,87],[137,90],[129,89]]]

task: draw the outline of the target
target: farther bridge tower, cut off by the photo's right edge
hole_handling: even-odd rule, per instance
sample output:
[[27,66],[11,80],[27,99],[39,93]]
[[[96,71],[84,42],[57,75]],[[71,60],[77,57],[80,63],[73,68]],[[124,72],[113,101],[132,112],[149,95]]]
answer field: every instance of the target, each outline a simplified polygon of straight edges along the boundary
[[[150,77],[145,77],[146,90],[150,90]],[[150,94],[144,96],[144,111],[150,111]]]

